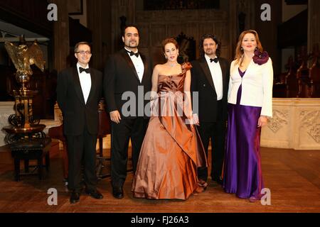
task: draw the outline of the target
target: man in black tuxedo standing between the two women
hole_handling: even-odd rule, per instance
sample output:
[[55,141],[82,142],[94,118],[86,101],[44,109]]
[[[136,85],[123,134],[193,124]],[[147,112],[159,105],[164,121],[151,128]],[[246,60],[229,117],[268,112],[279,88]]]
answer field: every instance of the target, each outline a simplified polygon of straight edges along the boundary
[[[198,113],[195,112],[200,123],[198,131],[207,155],[211,140],[211,179],[221,184],[230,66],[227,60],[219,57],[219,50],[220,43],[215,35],[203,35],[200,41],[202,56],[191,62],[191,90],[198,92],[198,103],[193,103],[193,111],[196,111],[195,105],[198,104]],[[206,184],[208,168],[198,169],[198,178]]]

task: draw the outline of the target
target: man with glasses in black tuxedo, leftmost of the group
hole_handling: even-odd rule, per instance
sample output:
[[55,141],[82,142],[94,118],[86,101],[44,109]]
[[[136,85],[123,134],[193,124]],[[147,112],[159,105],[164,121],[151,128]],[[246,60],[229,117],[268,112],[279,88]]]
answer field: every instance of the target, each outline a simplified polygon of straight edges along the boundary
[[68,149],[68,187],[70,203],[79,201],[81,165],[84,164],[85,192],[95,199],[102,199],[97,191],[95,175],[96,143],[98,132],[98,104],[102,97],[102,72],[89,67],[89,43],[75,45],[76,67],[58,74],[57,101],[63,113],[63,133]]

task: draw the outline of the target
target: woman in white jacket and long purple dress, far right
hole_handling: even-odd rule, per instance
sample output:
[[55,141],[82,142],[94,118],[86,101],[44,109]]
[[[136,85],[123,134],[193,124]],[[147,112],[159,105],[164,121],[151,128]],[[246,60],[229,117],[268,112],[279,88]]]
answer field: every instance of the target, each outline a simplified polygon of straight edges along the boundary
[[272,116],[272,61],[262,51],[257,32],[243,31],[230,65],[223,188],[250,201],[262,197],[260,133]]

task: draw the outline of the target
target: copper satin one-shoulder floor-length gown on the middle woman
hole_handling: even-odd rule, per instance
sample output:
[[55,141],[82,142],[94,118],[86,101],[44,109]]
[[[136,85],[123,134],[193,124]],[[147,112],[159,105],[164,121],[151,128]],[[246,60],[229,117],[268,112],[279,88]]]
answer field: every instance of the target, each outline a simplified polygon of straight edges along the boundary
[[[197,167],[207,166],[196,127],[185,123],[184,113],[178,114],[191,65],[184,63],[181,68],[180,74],[159,75],[159,99],[152,105],[166,114],[151,114],[132,183],[134,197],[188,199],[198,188]],[[159,103],[161,108],[157,109]]]

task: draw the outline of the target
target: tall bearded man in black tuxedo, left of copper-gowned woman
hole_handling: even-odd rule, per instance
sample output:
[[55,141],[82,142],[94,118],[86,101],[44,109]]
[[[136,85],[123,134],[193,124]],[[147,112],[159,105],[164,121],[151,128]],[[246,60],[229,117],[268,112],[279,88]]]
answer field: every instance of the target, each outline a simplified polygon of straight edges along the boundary
[[138,52],[138,28],[126,26],[122,31],[122,41],[124,48],[107,61],[103,82],[107,111],[112,121],[112,195],[117,199],[124,196],[122,187],[127,177],[130,138],[133,170],[137,167],[149,120],[144,113],[144,94],[151,90],[152,74],[151,62]]

